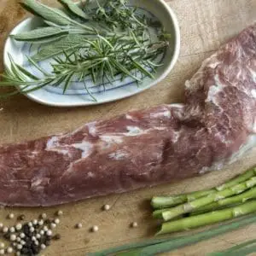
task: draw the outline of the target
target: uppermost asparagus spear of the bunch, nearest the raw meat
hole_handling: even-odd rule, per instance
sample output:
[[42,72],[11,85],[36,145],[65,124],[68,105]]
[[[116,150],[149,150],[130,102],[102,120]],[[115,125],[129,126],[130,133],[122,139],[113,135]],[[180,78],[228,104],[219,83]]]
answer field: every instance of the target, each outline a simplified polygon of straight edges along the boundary
[[235,186],[238,183],[242,183],[249,179],[250,177],[256,176],[256,167],[249,169],[247,172],[231,179],[229,182],[224,183],[214,189],[206,189],[201,191],[196,191],[193,193],[189,193],[187,195],[174,195],[174,196],[154,196],[151,205],[155,209],[166,208],[166,207],[174,207],[178,204],[182,204],[184,202],[195,201],[196,199],[210,195],[217,191],[222,191],[224,189],[228,189],[230,187]]

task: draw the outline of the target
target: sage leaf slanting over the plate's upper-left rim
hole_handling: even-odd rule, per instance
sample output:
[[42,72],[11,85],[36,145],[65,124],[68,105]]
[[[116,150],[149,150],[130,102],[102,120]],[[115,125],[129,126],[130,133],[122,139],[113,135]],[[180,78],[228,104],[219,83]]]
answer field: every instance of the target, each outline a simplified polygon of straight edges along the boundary
[[24,0],[23,3],[21,3],[21,5],[29,12],[32,12],[32,14],[38,15],[44,18],[45,20],[54,22],[57,25],[65,26],[73,23],[73,20],[71,20],[60,9],[51,8],[47,5],[44,5],[43,3],[38,3],[35,0]]

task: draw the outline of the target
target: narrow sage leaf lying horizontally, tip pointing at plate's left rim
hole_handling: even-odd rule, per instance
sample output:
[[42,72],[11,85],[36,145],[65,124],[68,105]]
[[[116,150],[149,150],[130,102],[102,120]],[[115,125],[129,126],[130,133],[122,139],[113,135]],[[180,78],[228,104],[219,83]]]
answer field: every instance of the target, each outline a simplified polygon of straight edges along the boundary
[[11,38],[14,38],[17,41],[41,41],[42,39],[49,39],[55,37],[61,37],[67,35],[68,31],[62,30],[58,27],[42,27],[37,28],[29,32],[21,32],[15,35],[11,35]]

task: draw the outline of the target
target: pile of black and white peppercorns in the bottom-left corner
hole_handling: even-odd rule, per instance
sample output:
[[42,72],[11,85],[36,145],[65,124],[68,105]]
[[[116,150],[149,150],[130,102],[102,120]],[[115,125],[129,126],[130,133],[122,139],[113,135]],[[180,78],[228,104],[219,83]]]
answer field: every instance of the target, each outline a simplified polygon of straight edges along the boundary
[[[59,211],[55,215],[61,216],[63,212]],[[8,218],[12,219],[15,215],[9,213]],[[25,219],[25,215],[20,215],[17,220]],[[46,213],[42,213],[38,219],[21,224],[16,223],[13,226],[3,226],[1,223],[0,230],[3,238],[10,242],[6,246],[0,242],[0,254],[15,253],[15,255],[38,255],[46,247],[49,247],[51,240],[61,239],[61,235],[53,235],[53,228],[60,223],[59,218],[49,219]]]

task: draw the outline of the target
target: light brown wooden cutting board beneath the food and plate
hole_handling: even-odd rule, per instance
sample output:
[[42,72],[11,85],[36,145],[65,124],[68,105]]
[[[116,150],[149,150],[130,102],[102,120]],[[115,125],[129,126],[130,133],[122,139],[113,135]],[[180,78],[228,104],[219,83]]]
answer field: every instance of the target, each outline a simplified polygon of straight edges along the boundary
[[[19,0],[0,0],[1,55],[8,33],[26,16],[18,2]],[[44,1],[50,4],[54,2],[53,0]],[[172,6],[179,20],[182,47],[176,67],[163,82],[140,95],[92,108],[49,108],[32,102],[25,96],[1,100],[0,143],[18,143],[53,133],[71,131],[92,119],[108,118],[133,108],[145,108],[163,102],[182,102],[183,84],[200,67],[201,61],[244,27],[253,23],[256,17],[256,0],[172,0],[167,2]],[[3,70],[2,62],[1,69]],[[61,240],[54,242],[45,250],[45,255],[79,256],[98,249],[138,241],[154,234],[154,222],[150,217],[148,205],[152,195],[189,192],[223,183],[227,178],[256,164],[255,155],[256,149],[224,170],[153,189],[142,189],[124,195],[110,195],[46,209],[0,209],[0,222],[12,223],[6,219],[9,212],[14,212],[15,215],[24,213],[26,218],[30,219],[37,218],[41,212],[52,215],[55,210],[61,209],[64,212],[58,228]],[[109,212],[102,212],[101,208],[104,204],[111,206]],[[130,228],[132,221],[137,221],[137,229]],[[79,222],[83,224],[83,228],[75,230],[73,226]],[[100,230],[97,233],[89,232],[93,224],[99,226]],[[255,231],[256,225],[251,225],[195,246],[184,247],[175,255],[205,255],[214,250],[253,239]]]

